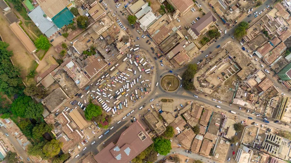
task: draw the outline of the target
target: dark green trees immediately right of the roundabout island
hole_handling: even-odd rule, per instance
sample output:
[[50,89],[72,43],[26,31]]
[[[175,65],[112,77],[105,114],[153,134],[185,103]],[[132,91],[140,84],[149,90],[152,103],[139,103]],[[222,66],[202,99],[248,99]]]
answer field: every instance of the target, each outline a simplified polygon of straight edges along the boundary
[[187,70],[183,73],[182,78],[183,78],[183,88],[186,90],[193,90],[194,85],[193,85],[193,78],[197,70],[197,65],[196,64],[189,64],[187,67]]

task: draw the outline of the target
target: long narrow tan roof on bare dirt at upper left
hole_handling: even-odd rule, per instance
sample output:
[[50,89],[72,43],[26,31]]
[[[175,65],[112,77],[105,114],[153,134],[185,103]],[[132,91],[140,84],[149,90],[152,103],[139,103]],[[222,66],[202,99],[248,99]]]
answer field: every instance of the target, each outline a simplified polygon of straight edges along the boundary
[[36,47],[34,46],[32,40],[16,22],[10,24],[10,28],[12,32],[16,35],[16,37],[20,40],[20,42],[24,45],[24,47],[27,49],[27,51],[32,53],[36,50]]

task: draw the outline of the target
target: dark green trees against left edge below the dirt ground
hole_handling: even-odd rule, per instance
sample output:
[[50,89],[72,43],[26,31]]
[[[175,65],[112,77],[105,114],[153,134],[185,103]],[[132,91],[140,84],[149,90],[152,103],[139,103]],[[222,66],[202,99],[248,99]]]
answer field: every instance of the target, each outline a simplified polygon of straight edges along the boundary
[[12,96],[22,92],[24,85],[19,78],[20,70],[10,61],[12,51],[7,50],[9,44],[0,41],[0,92]]

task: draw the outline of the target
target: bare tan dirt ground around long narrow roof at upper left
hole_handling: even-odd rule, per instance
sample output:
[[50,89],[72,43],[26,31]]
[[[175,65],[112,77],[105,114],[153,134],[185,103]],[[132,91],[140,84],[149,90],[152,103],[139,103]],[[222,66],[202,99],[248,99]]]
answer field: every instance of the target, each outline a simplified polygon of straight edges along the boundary
[[11,59],[14,65],[20,68],[20,77],[25,81],[26,75],[31,70],[32,65],[35,65],[34,57],[26,51],[16,35],[10,30],[9,22],[2,12],[0,12],[0,24],[1,36],[3,37],[3,40],[10,45],[8,50],[13,50],[14,53]]

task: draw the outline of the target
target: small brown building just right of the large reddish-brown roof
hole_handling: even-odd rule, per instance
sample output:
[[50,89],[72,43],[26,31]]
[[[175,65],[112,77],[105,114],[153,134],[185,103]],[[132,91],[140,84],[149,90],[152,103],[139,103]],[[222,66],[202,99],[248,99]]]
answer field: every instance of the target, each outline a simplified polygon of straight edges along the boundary
[[153,128],[158,135],[161,135],[166,130],[166,127],[162,124],[161,120],[156,117],[152,112],[147,112],[144,117],[148,122],[149,126]]

